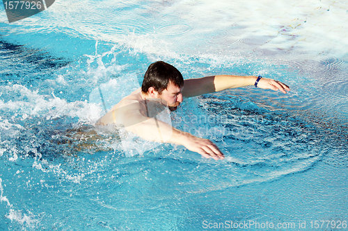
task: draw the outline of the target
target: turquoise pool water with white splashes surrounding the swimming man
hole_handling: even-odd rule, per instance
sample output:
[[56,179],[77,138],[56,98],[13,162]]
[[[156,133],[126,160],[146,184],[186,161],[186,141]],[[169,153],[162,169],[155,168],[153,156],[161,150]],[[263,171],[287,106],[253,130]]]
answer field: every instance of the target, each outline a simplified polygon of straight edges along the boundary
[[[12,24],[1,6],[0,230],[347,230],[347,2],[277,2],[56,1]],[[81,148],[93,92],[109,109],[156,60],[292,91],[185,99],[173,126],[222,161],[102,130]]]

